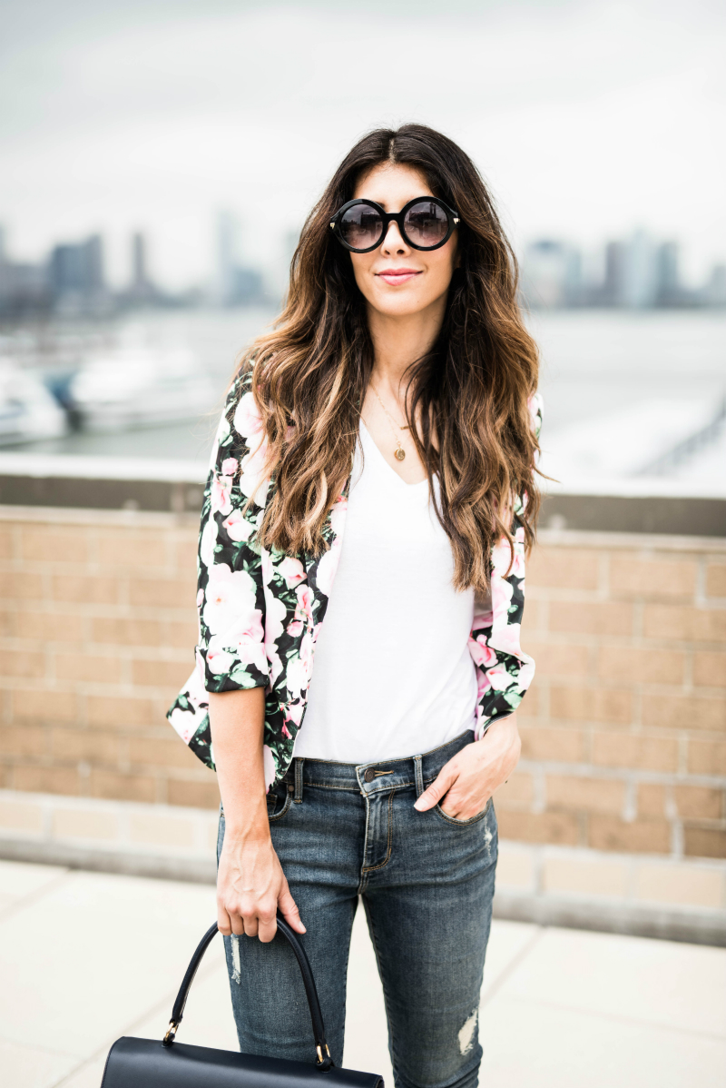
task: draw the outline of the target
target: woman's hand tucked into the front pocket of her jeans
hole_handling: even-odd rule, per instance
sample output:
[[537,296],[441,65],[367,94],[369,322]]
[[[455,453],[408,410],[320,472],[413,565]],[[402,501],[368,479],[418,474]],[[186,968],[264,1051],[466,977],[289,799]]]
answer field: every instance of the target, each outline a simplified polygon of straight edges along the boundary
[[452,819],[472,819],[512,774],[521,749],[516,715],[495,719],[480,741],[467,744],[443,765],[414,807],[427,812],[440,804]]

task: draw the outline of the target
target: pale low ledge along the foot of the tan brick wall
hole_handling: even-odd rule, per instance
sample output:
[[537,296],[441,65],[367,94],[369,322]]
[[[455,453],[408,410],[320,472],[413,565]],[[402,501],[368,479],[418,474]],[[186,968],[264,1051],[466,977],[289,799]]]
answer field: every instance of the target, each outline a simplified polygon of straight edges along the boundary
[[[213,883],[216,812],[0,791],[0,857]],[[495,916],[726,947],[726,862],[501,841]]]

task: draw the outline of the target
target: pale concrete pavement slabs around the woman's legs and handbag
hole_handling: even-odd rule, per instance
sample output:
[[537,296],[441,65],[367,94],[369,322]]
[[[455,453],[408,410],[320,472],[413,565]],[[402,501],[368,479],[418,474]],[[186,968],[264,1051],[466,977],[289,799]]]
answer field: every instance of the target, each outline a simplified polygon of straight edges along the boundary
[[[114,1039],[163,1035],[213,918],[206,885],[0,862],[3,1088],[99,1088]],[[480,1019],[483,1088],[723,1088],[726,950],[495,922]],[[236,1049],[221,942],[180,1040]],[[346,1064],[392,1088],[362,911]]]

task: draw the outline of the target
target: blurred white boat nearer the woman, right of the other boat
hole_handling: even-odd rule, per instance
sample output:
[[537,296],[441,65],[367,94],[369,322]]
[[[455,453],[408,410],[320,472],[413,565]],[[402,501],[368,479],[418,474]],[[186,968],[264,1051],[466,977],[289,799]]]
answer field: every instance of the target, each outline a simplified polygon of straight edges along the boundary
[[84,363],[71,381],[71,406],[87,431],[126,431],[193,419],[218,390],[191,351],[122,348]]

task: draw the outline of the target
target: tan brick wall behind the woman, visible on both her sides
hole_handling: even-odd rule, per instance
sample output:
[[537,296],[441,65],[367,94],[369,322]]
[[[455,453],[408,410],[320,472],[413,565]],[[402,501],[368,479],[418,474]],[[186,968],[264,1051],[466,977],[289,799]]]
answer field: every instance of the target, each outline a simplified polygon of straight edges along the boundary
[[[164,712],[192,664],[197,519],[0,508],[0,787],[211,808]],[[501,834],[726,855],[726,542],[544,532],[537,677]]]

